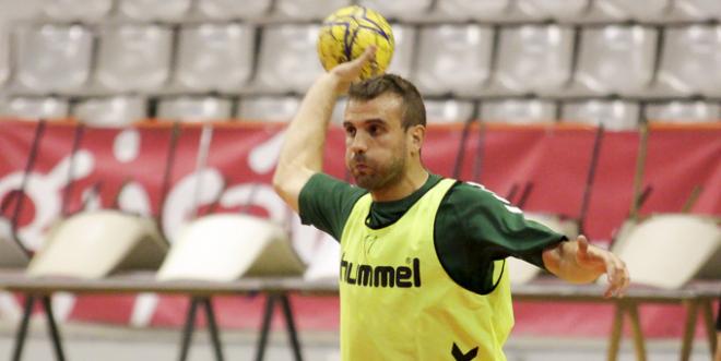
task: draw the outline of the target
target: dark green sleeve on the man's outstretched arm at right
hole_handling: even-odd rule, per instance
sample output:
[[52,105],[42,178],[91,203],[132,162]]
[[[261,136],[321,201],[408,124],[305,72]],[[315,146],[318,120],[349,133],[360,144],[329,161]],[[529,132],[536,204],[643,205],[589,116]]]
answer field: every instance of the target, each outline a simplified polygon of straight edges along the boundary
[[462,230],[464,243],[482,250],[483,258],[513,256],[544,268],[542,253],[566,237],[525,219],[522,212],[495,193],[473,183],[459,183],[448,202],[452,208],[449,220]]

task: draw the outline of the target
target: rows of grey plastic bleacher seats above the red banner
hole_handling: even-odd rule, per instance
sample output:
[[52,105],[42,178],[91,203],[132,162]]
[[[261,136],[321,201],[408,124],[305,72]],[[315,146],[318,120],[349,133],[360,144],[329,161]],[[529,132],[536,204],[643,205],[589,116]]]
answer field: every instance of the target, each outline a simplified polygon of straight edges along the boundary
[[[322,71],[319,21],[350,1],[251,3],[47,1],[0,35],[1,112],[80,117],[92,103],[97,112],[113,109],[113,123],[173,109],[198,120],[279,120],[244,107],[297,103]],[[714,1],[361,3],[393,22],[390,71],[417,83],[430,121],[493,115],[635,129],[642,119],[721,116]]]

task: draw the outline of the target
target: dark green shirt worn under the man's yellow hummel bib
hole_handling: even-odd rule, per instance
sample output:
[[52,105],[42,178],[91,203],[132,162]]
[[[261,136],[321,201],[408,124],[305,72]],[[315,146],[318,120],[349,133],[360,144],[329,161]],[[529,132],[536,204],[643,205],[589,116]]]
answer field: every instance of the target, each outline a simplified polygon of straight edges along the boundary
[[[370,228],[395,222],[441,180],[430,175],[411,195],[392,202],[374,202],[366,217]],[[340,240],[355,202],[367,191],[324,173],[310,178],[298,200],[305,225]],[[440,203],[434,228],[438,258],[458,285],[477,293],[493,288],[493,261],[515,256],[544,267],[542,252],[566,238],[528,220],[520,209],[473,183],[457,182]]]

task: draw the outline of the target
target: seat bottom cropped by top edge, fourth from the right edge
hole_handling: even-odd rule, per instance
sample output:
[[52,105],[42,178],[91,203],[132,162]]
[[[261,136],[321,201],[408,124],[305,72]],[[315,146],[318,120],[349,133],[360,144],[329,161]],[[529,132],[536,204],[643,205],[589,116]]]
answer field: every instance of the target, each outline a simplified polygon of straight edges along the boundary
[[509,0],[438,0],[436,13],[457,21],[499,21],[510,8]]

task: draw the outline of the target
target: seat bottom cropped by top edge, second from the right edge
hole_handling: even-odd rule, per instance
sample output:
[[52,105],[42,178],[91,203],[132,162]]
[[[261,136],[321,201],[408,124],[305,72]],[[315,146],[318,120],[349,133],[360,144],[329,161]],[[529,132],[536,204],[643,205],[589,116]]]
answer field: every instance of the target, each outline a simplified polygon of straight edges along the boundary
[[664,21],[670,15],[672,0],[596,0],[594,7],[617,21]]

